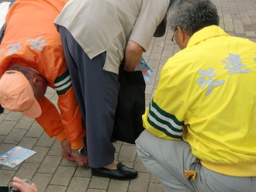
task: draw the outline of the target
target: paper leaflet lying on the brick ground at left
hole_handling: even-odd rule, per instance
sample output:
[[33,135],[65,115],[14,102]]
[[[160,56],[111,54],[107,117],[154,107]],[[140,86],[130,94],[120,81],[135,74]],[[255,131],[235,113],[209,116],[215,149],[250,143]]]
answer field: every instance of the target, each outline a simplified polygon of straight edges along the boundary
[[33,150],[16,146],[0,156],[0,165],[14,168],[35,153]]

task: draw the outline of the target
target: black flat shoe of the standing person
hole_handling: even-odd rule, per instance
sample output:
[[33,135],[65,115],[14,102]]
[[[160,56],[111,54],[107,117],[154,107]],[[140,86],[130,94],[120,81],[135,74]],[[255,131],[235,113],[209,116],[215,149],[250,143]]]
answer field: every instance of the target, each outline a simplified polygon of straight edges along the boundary
[[109,177],[116,180],[133,180],[138,176],[137,170],[133,170],[122,163],[117,164],[117,170],[109,170],[104,167],[91,168],[92,175],[98,177]]

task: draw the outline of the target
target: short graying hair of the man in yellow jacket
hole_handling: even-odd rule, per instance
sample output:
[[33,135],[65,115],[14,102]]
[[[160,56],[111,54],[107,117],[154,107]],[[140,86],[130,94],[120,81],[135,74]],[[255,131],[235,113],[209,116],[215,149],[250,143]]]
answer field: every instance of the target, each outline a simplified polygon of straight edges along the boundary
[[171,30],[179,26],[189,36],[203,27],[218,26],[220,20],[216,6],[209,0],[174,0],[167,19]]

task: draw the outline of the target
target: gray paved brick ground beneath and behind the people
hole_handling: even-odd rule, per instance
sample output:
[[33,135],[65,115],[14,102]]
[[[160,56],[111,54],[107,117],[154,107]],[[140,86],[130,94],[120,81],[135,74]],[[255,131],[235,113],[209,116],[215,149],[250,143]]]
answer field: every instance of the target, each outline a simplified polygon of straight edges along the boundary
[[[247,37],[256,42],[256,0],[213,0],[220,14],[220,26],[232,36]],[[152,39],[144,58],[154,70],[147,83],[148,105],[157,84],[158,74],[166,60],[178,52],[171,43],[172,33]],[[57,103],[53,90],[47,90],[47,98]],[[9,184],[17,176],[33,180],[40,191],[47,192],[162,192],[161,184],[147,172],[137,157],[135,146],[116,142],[116,159],[139,171],[136,180],[119,181],[92,177],[90,169],[81,168],[61,157],[61,147],[55,139],[49,139],[33,119],[17,112],[5,111],[0,115],[0,154],[14,146],[33,149],[37,153],[12,169],[0,166],[0,185]],[[204,192],[204,191],[202,191]]]

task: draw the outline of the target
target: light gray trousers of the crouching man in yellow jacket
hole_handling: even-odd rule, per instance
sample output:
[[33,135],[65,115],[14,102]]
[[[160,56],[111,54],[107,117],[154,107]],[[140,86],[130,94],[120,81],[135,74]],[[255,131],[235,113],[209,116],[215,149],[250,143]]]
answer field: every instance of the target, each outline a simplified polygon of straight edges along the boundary
[[[161,139],[144,130],[136,140],[137,153],[168,192],[255,192],[256,177],[230,177],[213,172],[192,155],[187,142]],[[195,170],[195,181],[184,170]]]

